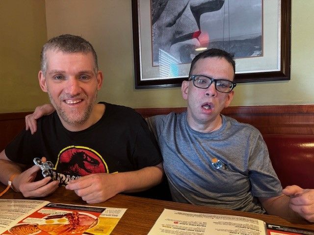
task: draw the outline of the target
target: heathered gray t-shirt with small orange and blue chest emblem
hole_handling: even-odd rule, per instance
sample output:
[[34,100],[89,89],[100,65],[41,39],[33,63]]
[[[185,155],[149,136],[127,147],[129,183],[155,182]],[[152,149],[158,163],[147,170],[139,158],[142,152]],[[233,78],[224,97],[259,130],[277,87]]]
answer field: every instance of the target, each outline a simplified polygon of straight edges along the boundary
[[201,133],[190,128],[186,112],[147,122],[159,143],[174,201],[264,213],[258,197],[281,195],[255,127],[222,115],[221,128]]

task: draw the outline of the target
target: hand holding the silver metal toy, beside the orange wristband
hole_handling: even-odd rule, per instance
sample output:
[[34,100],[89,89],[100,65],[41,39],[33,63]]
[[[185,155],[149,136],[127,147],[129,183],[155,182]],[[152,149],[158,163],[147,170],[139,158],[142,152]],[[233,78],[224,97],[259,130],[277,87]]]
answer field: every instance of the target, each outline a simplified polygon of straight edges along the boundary
[[[45,158],[42,160],[45,161]],[[51,177],[34,181],[39,169],[39,166],[33,165],[29,169],[17,175],[12,182],[14,188],[21,191],[25,197],[44,197],[51,194],[58,188],[59,182],[52,181],[49,183],[49,181],[51,181]]]

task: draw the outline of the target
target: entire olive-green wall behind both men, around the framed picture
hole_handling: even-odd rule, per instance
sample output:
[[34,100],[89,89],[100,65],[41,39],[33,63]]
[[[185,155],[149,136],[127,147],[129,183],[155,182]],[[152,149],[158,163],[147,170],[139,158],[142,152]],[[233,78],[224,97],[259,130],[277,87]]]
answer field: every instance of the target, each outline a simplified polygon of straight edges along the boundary
[[[62,33],[81,35],[95,47],[105,75],[99,100],[133,108],[186,105],[180,88],[134,89],[131,0],[24,2],[0,1],[7,44],[1,44],[0,113],[47,102],[37,82],[40,48]],[[231,105],[314,104],[314,1],[291,2],[291,80],[238,84]]]

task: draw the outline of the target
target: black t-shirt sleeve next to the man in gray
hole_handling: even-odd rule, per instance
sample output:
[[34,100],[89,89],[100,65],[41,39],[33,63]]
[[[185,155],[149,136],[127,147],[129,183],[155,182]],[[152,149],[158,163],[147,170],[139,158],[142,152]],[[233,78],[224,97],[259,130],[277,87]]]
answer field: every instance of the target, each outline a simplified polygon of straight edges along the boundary
[[136,158],[138,168],[154,166],[162,161],[156,138],[143,118],[139,120],[133,158]]

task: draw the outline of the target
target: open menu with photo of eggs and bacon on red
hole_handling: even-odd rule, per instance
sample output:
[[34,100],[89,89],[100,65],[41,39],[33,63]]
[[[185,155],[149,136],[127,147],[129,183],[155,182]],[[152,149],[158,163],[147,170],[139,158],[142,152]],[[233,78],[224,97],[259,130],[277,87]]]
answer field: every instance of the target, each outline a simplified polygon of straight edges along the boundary
[[2,235],[109,235],[127,210],[0,199]]

